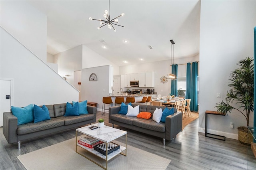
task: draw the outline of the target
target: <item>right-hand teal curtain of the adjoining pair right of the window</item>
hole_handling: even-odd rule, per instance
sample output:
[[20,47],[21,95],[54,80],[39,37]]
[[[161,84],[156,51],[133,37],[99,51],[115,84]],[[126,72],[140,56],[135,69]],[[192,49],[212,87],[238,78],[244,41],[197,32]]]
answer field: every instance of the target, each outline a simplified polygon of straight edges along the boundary
[[192,77],[191,77],[191,103],[190,109],[191,111],[198,111],[198,101],[197,101],[197,75],[198,75],[198,63],[192,63]]

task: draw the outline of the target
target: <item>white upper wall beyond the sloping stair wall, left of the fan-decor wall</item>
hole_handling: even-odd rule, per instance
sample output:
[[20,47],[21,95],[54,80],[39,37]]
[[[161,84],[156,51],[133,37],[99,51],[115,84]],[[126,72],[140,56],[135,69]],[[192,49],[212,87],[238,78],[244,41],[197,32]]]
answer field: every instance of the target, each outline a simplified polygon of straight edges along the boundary
[[82,45],[54,55],[54,63],[58,64],[58,73],[74,85],[74,71],[82,69]]

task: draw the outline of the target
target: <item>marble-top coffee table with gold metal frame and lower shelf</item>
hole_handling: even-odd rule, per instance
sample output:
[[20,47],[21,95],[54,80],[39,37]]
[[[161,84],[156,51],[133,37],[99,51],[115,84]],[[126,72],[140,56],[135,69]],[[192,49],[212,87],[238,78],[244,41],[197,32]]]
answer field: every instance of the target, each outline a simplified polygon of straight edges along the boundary
[[[93,125],[98,126],[98,123],[93,124]],[[81,127],[81,128],[76,129],[76,152],[78,154],[84,156],[88,160],[94,162],[98,166],[102,167],[103,169],[107,170],[108,169],[108,160],[114,158],[114,156],[116,156],[118,154],[122,154],[122,155],[126,156],[126,153],[127,153],[127,132],[124,131],[124,130],[120,130],[120,129],[112,128],[112,127],[108,127],[108,126],[104,126],[104,127],[100,127],[100,128],[96,128],[96,129],[91,130],[89,127],[91,127],[93,125],[88,125],[86,127]],[[118,150],[116,150],[115,152],[112,152],[110,154],[108,154],[108,151],[106,151],[106,156],[105,156],[105,155],[101,154],[100,152],[94,150],[94,148],[88,148],[86,146],[83,146],[83,145],[79,144],[78,143],[78,138],[77,138],[77,132],[80,132],[82,134],[86,134],[88,136],[91,136],[93,138],[101,140],[101,141],[105,142],[106,144],[108,144],[112,140],[115,140],[116,138],[119,138],[123,135],[126,135],[125,147],[120,145],[120,148]],[[77,150],[77,146],[80,146],[81,148],[91,152],[92,154],[95,154],[96,156],[106,160],[106,167],[104,167],[104,166],[98,164],[97,162],[95,162],[94,160],[88,158],[88,156],[85,156],[84,154],[79,153],[78,150]],[[125,151],[125,154],[123,153],[123,151]]]

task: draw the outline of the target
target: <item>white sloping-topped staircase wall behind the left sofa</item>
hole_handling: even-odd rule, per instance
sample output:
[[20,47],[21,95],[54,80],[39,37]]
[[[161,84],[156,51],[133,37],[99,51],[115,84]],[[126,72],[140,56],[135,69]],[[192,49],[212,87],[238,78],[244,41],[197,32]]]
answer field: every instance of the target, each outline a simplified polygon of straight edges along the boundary
[[49,105],[78,101],[78,91],[1,28],[0,77],[13,79],[13,103]]

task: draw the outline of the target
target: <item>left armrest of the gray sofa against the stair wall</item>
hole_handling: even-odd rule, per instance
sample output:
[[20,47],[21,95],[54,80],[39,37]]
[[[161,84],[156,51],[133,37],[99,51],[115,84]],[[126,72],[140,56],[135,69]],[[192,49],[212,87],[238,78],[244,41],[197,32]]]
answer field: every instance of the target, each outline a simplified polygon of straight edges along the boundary
[[3,114],[3,134],[9,144],[17,141],[18,118],[11,112]]

